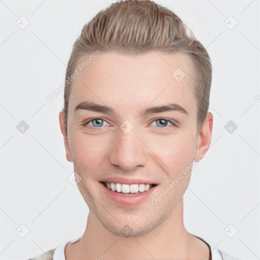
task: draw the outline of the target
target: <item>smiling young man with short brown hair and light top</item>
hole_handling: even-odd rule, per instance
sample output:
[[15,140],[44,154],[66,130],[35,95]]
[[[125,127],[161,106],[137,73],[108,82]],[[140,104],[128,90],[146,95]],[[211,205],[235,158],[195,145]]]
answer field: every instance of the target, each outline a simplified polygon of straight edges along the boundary
[[112,4],[83,27],[59,123],[87,225],[33,259],[237,259],[183,223],[191,169],[211,143],[211,73],[191,28],[154,2]]

